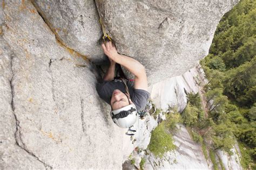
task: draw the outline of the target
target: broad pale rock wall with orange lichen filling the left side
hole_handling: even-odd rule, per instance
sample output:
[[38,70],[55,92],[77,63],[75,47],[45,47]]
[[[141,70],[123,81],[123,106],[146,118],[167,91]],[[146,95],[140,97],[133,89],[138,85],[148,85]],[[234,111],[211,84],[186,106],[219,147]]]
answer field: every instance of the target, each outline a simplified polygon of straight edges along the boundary
[[124,132],[91,63],[56,40],[30,1],[2,8],[1,169],[120,169]]

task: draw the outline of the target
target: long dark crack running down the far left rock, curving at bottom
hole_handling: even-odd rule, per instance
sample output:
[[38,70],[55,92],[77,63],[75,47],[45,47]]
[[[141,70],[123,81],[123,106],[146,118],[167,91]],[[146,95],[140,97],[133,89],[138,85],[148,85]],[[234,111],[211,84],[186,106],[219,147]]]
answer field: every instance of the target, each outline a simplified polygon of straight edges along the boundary
[[14,104],[14,84],[13,84],[13,80],[14,80],[14,71],[12,69],[12,59],[14,58],[14,55],[12,54],[11,55],[11,62],[10,62],[10,65],[11,65],[11,74],[12,74],[12,77],[10,79],[10,88],[11,88],[11,109],[12,109],[12,113],[14,114],[14,118],[15,118],[15,122],[16,122],[16,131],[14,133],[14,137],[15,137],[15,140],[16,140],[16,145],[20,148],[22,148],[22,150],[26,151],[28,154],[30,154],[32,157],[35,157],[39,162],[41,162],[44,167],[46,169],[52,169],[52,166],[50,165],[47,165],[45,164],[45,162],[43,162],[42,160],[40,160],[35,154],[33,154],[31,151],[29,151],[25,144],[23,143],[22,141],[22,138],[21,138],[21,126],[19,126],[19,121],[18,121],[18,118],[16,116],[16,113],[15,113],[15,104]]

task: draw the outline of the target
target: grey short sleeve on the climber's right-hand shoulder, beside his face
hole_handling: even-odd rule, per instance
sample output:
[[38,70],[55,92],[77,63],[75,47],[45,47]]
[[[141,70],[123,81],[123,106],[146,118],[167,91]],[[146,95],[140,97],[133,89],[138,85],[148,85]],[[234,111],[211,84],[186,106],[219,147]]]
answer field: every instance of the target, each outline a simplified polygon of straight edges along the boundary
[[145,108],[147,104],[147,100],[149,99],[150,93],[146,90],[142,89],[134,89],[132,95],[132,102],[136,105],[137,110],[142,110]]

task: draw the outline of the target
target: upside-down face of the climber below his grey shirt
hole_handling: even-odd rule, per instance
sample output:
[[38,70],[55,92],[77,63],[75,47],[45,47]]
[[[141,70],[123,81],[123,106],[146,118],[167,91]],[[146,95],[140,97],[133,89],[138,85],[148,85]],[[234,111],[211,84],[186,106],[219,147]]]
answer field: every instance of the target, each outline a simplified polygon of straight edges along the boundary
[[[112,93],[111,97],[111,106],[113,110],[120,109],[125,107],[126,105],[129,105],[128,97],[120,90],[116,89]],[[130,101],[131,102],[131,101]]]

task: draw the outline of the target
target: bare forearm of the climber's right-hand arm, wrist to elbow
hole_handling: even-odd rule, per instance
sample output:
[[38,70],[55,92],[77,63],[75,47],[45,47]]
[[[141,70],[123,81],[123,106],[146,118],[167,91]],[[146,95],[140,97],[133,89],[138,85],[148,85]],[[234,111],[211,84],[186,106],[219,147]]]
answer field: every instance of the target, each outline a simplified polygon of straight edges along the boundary
[[120,65],[124,66],[129,72],[135,75],[135,77],[141,76],[145,72],[144,66],[137,60],[121,55],[116,54],[112,56],[113,61],[119,63]]

